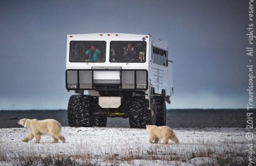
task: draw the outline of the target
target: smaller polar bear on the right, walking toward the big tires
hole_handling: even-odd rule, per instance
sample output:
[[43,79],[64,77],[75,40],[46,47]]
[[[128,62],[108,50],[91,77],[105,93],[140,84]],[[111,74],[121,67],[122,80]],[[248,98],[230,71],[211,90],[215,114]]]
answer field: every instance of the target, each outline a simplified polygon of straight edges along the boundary
[[162,138],[164,144],[168,144],[169,139],[172,140],[175,144],[179,144],[179,140],[171,127],[146,125],[146,128],[147,131],[149,131],[149,142],[151,143],[153,143],[153,141],[154,143],[158,143],[158,140]]

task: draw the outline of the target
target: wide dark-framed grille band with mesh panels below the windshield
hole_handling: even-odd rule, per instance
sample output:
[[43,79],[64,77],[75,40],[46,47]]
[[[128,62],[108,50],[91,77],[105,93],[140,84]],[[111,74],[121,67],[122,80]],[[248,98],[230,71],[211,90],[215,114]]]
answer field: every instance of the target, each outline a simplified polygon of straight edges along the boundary
[[[120,80],[116,77],[106,77],[107,71],[104,74],[99,74],[94,77],[98,70],[67,70],[66,71],[66,89],[147,89],[147,71],[146,70],[115,70],[120,73]],[[109,73],[114,73],[109,70]],[[108,78],[108,79],[106,79]],[[77,83],[78,82],[78,83]]]

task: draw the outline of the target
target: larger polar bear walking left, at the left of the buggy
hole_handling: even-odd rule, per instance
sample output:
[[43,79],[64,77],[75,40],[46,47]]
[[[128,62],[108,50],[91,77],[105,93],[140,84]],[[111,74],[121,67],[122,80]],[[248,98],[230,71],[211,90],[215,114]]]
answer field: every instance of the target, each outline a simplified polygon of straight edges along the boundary
[[21,126],[24,126],[30,130],[28,136],[22,140],[23,142],[28,142],[35,136],[35,143],[39,143],[42,135],[51,135],[53,137],[53,143],[59,142],[58,140],[65,142],[64,136],[60,134],[62,126],[57,120],[31,120],[24,118],[19,120],[18,124],[21,124]]

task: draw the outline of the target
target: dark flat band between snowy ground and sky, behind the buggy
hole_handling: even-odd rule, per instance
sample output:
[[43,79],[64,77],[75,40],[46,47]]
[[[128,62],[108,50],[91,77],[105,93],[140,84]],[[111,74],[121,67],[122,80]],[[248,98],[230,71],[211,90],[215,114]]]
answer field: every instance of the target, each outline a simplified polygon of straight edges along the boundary
[[[167,111],[167,125],[174,128],[187,127],[246,127],[246,109],[172,109]],[[252,111],[251,111],[252,112]],[[256,110],[253,110],[255,120]],[[68,126],[66,110],[0,111],[0,128],[21,127],[21,118],[52,118],[62,126]],[[107,127],[129,127],[125,118],[108,118]]]

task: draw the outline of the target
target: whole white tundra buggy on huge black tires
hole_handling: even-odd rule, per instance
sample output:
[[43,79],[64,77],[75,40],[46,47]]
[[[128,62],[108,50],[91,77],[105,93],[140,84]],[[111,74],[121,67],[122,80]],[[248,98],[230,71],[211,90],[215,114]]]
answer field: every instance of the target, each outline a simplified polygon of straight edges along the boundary
[[129,118],[131,127],[166,124],[173,94],[168,45],[150,35],[68,35],[66,89],[71,127],[106,127],[107,117]]

